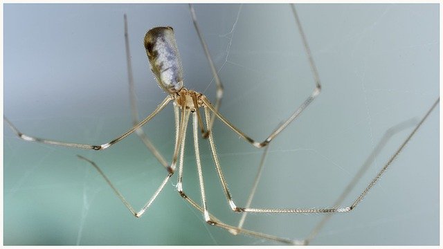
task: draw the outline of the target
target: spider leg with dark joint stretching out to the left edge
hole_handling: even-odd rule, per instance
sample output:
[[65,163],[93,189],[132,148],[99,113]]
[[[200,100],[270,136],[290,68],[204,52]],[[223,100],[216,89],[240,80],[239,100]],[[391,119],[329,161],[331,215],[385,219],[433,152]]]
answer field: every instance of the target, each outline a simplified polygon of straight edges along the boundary
[[146,124],[147,122],[149,122],[152,118],[154,118],[154,116],[156,116],[157,114],[159,114],[159,112],[161,110],[163,110],[163,108],[166,107],[166,104],[168,104],[170,101],[172,100],[172,97],[167,96],[162,102],[161,104],[159,104],[159,106],[149,115],[147,116],[147,118],[145,118],[144,120],[142,120],[141,122],[139,122],[138,124],[134,125],[134,127],[132,127],[131,129],[129,129],[129,131],[126,131],[125,133],[123,133],[122,135],[118,136],[117,138],[114,138],[113,140],[111,140],[110,142],[107,142],[105,144],[102,145],[87,145],[87,144],[78,144],[78,143],[73,143],[73,142],[60,142],[60,141],[55,141],[55,140],[46,140],[43,138],[36,138],[33,136],[28,136],[24,133],[21,133],[21,131],[19,131],[14,124],[12,124],[12,122],[10,122],[8,120],[8,118],[6,118],[5,116],[3,116],[3,120],[5,120],[9,126],[11,127],[12,131],[14,131],[14,133],[21,139],[26,140],[26,141],[30,141],[30,142],[42,142],[42,143],[46,143],[48,145],[59,145],[59,146],[64,146],[64,147],[72,147],[72,148],[77,148],[77,149],[93,149],[93,150],[102,150],[102,149],[107,149],[109,147],[111,147],[111,145],[115,145],[117,142],[119,142],[120,140],[123,140],[124,138],[126,138],[127,136],[129,136],[129,134],[133,133],[134,131],[136,131],[136,129],[142,127],[144,124]]

